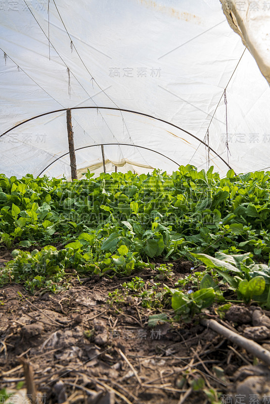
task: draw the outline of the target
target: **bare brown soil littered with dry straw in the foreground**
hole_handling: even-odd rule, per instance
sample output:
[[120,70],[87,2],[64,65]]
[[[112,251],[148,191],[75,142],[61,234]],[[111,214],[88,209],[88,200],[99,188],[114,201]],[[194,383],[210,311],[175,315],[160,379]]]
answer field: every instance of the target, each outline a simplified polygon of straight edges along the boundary
[[[2,251],[2,263],[9,259],[9,251]],[[162,282],[173,287],[192,265],[174,263],[174,275]],[[150,282],[156,274],[145,270],[138,276]],[[234,372],[253,364],[253,357],[200,325],[198,317],[189,324],[171,321],[150,328],[149,316],[158,309],[143,308],[132,296],[123,302],[108,298],[131,278],[93,276],[81,284],[75,280],[58,294],[41,290],[28,295],[17,284],[0,289],[0,390],[14,391],[27,381],[20,363],[24,358],[32,367],[30,383],[40,392],[39,402],[46,404],[214,403],[214,396],[196,391],[198,379],[208,392],[230,394]],[[162,313],[173,318],[171,310]],[[214,309],[206,315],[218,320]],[[244,332],[245,326],[237,330]]]

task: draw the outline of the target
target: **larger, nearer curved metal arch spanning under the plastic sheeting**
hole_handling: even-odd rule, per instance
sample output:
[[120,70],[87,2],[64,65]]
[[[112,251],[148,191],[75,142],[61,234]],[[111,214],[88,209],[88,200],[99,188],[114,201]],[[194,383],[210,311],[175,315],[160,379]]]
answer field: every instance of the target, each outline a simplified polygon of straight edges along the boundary
[[[45,115],[50,115],[50,114],[54,114],[54,113],[57,113],[57,112],[64,112],[64,111],[67,111],[67,110],[86,110],[86,109],[113,110],[113,111],[129,112],[129,113],[131,113],[131,114],[137,114],[137,115],[141,115],[141,116],[144,116],[144,117],[147,117],[147,118],[155,119],[155,120],[160,121],[160,122],[164,122],[164,123],[166,123],[166,124],[168,124],[168,125],[170,125],[170,126],[173,126],[174,128],[177,128],[177,129],[182,130],[183,132],[185,132],[185,133],[187,133],[188,135],[192,136],[194,139],[198,140],[200,143],[204,144],[204,145],[205,145],[207,148],[209,148],[220,160],[222,160],[222,162],[223,162],[224,164],[226,164],[226,166],[228,166],[229,169],[232,169],[232,167],[229,165],[229,163],[227,163],[224,159],[222,159],[222,157],[219,156],[219,154],[218,154],[214,149],[212,149],[212,147],[208,146],[208,144],[206,144],[203,140],[199,139],[197,136],[193,135],[192,133],[188,132],[187,130],[182,129],[181,127],[179,127],[179,126],[177,126],[177,125],[174,125],[173,123],[170,123],[170,122],[168,122],[168,121],[165,121],[164,119],[156,118],[156,117],[154,117],[154,116],[152,116],[152,115],[144,114],[144,113],[138,112],[138,111],[125,110],[125,109],[123,109],[123,108],[114,108],[114,107],[73,107],[73,108],[63,108],[63,109],[61,109],[61,110],[50,111],[50,112],[46,112],[46,113],[44,113],[44,114],[36,115],[35,117],[26,119],[25,121],[23,121],[23,122],[21,122],[21,123],[18,123],[17,125],[15,125],[15,126],[13,126],[12,128],[8,129],[6,132],[2,133],[2,135],[0,135],[0,137],[6,135],[6,134],[9,133],[11,130],[17,128],[18,126],[21,126],[21,125],[25,124],[26,122],[32,121],[33,119],[36,119],[36,118],[43,117],[43,116],[45,116]],[[118,144],[118,143],[117,143],[117,144]],[[137,146],[137,147],[139,147],[139,146]],[[141,147],[142,147],[142,146],[141,146]],[[154,150],[153,150],[153,151],[154,151]],[[157,153],[158,153],[158,152],[157,152]],[[165,157],[166,157],[166,156],[165,156]],[[57,160],[58,160],[58,159],[56,159],[55,161],[57,161]]]

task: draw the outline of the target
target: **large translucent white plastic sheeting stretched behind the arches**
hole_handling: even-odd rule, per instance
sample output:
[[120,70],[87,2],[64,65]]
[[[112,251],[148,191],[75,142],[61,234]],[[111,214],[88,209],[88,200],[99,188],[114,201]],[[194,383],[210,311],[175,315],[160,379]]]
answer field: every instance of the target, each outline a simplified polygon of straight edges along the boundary
[[0,172],[70,178],[66,111],[10,129],[78,107],[93,107],[71,111],[79,176],[103,171],[101,144],[107,171],[270,166],[270,89],[219,0],[0,10]]

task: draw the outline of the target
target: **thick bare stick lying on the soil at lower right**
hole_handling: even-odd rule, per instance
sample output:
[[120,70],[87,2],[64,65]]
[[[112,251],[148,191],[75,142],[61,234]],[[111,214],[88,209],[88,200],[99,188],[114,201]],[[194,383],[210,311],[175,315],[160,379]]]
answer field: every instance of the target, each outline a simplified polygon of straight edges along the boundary
[[263,362],[270,366],[270,352],[259,345],[257,342],[254,342],[252,339],[245,338],[242,335],[229,330],[229,328],[219,324],[216,320],[202,319],[201,324],[205,327],[211,328],[218,334],[223,335],[224,337],[228,338],[230,341],[241,346],[242,348],[245,348],[256,358],[261,359]]

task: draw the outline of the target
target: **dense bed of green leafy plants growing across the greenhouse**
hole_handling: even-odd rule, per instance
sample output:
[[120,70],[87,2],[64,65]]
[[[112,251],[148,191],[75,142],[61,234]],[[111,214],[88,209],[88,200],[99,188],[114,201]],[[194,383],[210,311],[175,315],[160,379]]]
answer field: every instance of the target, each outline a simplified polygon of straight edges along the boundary
[[[172,175],[154,170],[138,176],[129,171],[102,173],[94,179],[87,171],[85,179],[72,182],[0,174],[0,240],[19,251],[0,269],[1,285],[16,281],[31,291],[40,287],[57,291],[68,285],[71,275],[129,276],[153,265],[151,260],[160,262],[161,280],[170,276],[167,260],[194,261],[199,258],[192,254],[205,254],[223,261],[222,266],[215,261],[208,267],[214,270],[214,282],[222,273],[223,282],[246,302],[255,299],[269,306],[267,269],[261,267],[270,254],[269,178],[270,172],[235,175],[229,170],[220,179],[213,167],[206,172],[191,165]],[[32,246],[43,248],[32,255],[25,251]],[[56,246],[61,249],[52,250]],[[240,265],[213,257],[216,251],[247,256]],[[247,269],[252,259],[254,268]],[[37,270],[43,264],[46,270]],[[179,280],[178,287],[184,294],[190,284],[200,289],[203,276],[195,272]],[[255,276],[265,280],[261,294],[251,289],[254,281],[247,288],[246,282],[240,285]],[[216,284],[210,287],[218,292]]]

